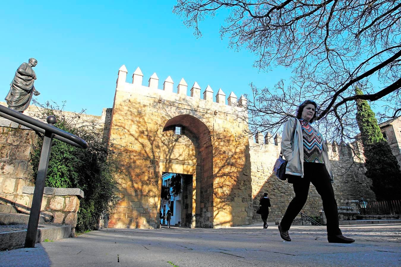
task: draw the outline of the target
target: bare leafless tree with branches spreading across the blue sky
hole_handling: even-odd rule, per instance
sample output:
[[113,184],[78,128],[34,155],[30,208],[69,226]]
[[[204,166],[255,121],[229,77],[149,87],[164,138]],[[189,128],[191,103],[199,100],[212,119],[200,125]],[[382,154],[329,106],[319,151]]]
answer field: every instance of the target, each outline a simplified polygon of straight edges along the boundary
[[401,114],[400,0],[178,0],[173,12],[201,36],[198,23],[224,8],[220,32],[233,48],[255,53],[257,68],[294,72],[290,84],[251,84],[253,130],[277,132],[305,99],[318,102],[319,128],[337,141],[358,132],[358,98],[384,101],[382,117]]

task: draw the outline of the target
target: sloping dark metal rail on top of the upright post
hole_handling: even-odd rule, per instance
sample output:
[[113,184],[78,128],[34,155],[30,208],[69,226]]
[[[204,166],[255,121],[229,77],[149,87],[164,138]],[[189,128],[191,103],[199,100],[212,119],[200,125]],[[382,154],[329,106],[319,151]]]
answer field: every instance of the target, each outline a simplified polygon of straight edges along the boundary
[[45,122],[41,122],[40,120],[31,118],[30,116],[26,116],[25,114],[7,108],[6,106],[0,105],[0,116],[43,134],[46,131],[49,131],[54,134],[53,138],[63,141],[74,147],[79,147],[81,149],[86,149],[88,147],[88,144],[76,135],[56,128],[53,125],[46,124]]

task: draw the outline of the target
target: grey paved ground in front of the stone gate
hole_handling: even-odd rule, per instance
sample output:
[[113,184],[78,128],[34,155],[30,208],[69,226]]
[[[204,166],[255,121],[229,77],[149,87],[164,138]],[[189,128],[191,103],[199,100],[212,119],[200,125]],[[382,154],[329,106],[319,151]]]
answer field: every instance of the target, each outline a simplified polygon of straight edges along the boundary
[[328,243],[325,227],[107,229],[0,252],[0,266],[401,266],[401,224],[341,227],[352,244]]

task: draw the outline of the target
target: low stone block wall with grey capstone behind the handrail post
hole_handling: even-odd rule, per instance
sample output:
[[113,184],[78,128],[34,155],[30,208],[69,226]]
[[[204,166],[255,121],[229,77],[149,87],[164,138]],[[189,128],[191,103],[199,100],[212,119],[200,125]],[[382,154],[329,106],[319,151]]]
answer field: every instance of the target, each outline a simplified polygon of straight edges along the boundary
[[[27,211],[32,205],[35,187],[24,187],[20,199],[24,201]],[[83,191],[78,188],[45,187],[42,198],[41,216],[47,223],[71,225],[71,237],[75,237],[77,226],[77,212],[79,199],[83,198]]]

